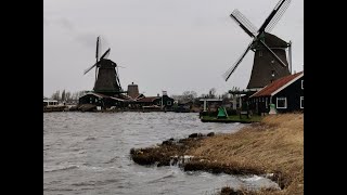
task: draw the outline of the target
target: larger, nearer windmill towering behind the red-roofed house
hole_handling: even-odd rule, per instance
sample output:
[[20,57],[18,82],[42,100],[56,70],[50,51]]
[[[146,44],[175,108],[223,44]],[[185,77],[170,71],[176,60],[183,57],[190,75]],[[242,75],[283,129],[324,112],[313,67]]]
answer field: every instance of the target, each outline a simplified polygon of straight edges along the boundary
[[[254,51],[255,55],[247,89],[264,88],[272,80],[291,75],[292,42],[285,42],[270,34],[290,5],[290,2],[291,0],[280,0],[258,30],[239,10],[234,10],[231,13],[230,16],[253,40],[235,64],[224,73],[226,81],[228,81],[249,50]],[[288,48],[290,65],[286,60],[286,48]]]

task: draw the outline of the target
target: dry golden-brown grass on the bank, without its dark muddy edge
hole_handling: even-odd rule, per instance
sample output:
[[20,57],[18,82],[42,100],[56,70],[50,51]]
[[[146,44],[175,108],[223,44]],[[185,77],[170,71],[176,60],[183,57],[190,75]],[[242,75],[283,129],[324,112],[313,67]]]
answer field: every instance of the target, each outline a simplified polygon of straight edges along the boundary
[[275,173],[283,190],[267,194],[304,194],[304,114],[270,115],[260,123],[204,139],[198,145],[187,154],[233,169]]

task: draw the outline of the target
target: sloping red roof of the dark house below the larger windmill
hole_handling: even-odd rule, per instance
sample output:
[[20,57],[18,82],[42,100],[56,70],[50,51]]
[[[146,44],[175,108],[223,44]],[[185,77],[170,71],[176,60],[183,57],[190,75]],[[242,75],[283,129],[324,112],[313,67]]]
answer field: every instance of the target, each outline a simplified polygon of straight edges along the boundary
[[285,77],[282,77],[280,79],[274,80],[272,83],[266,86],[260,91],[254,93],[249,98],[256,98],[256,96],[272,96],[277,94],[278,92],[282,91],[284,88],[296,81],[297,79],[301,78],[304,76],[304,72],[299,72],[294,75],[288,75]]

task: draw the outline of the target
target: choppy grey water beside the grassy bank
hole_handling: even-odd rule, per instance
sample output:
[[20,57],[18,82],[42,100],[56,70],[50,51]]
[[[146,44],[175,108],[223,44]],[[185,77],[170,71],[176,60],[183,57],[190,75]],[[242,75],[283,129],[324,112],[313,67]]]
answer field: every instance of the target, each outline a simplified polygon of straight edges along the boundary
[[145,167],[129,152],[194,132],[235,132],[245,125],[201,122],[194,113],[44,113],[43,194],[214,194],[222,186],[275,186],[237,178]]

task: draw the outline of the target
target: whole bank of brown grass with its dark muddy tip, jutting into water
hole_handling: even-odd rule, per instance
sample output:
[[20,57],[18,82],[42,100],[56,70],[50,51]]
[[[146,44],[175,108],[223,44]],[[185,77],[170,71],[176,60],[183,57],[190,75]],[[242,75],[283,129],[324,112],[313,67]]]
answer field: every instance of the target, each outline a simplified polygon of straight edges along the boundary
[[[138,159],[141,164],[142,160],[143,165],[156,159],[166,159],[163,165],[167,165],[175,155],[194,156],[183,165],[184,170],[274,173],[272,180],[283,190],[265,190],[258,194],[304,194],[304,114],[271,115],[236,133],[189,138],[181,142],[168,140],[158,147],[131,152],[134,161]],[[226,187],[222,194],[232,194],[232,191]]]

